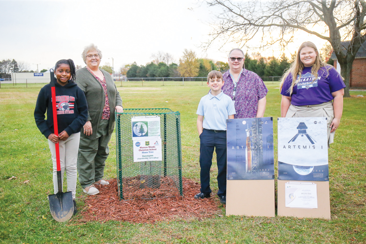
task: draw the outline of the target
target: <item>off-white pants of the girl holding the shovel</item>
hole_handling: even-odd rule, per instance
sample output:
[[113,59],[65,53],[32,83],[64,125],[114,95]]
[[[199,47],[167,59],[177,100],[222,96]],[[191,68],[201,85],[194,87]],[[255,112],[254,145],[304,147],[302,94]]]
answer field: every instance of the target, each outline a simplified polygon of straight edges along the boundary
[[[67,179],[67,191],[72,192],[72,199],[75,199],[76,195],[76,180],[77,170],[76,161],[78,159],[80,132],[71,134],[67,140],[61,140],[59,142],[60,148],[60,166],[61,166],[61,180],[63,183],[64,172],[66,170]],[[55,143],[48,140],[49,149],[51,150],[51,156],[53,161],[53,191],[56,194],[59,191],[57,185],[57,162],[56,162],[56,148]]]

